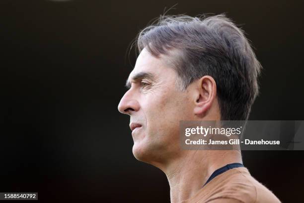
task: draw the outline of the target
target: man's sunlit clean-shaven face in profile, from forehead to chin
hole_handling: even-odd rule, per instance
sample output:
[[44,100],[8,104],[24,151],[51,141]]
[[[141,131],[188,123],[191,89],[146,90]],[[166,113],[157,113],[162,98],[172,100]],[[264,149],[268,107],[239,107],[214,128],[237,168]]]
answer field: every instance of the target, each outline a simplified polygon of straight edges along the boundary
[[188,91],[176,90],[176,79],[163,57],[141,52],[127,81],[130,89],[118,105],[121,113],[130,115],[138,160],[156,164],[178,156],[179,121],[191,119],[193,111]]

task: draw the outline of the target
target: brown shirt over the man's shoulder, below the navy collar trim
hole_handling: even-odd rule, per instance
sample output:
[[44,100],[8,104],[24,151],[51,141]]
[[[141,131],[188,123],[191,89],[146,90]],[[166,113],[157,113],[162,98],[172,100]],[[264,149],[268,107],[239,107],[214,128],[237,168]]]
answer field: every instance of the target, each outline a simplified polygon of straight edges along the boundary
[[200,198],[191,203],[280,203],[276,196],[256,181],[244,167],[228,170],[205,187],[199,195]]

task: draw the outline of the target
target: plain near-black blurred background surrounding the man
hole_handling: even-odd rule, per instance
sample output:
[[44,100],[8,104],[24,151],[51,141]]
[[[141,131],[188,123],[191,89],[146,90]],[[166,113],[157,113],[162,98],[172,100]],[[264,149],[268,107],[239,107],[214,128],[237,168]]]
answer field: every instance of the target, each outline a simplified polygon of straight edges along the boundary
[[[251,120],[304,120],[301,1],[0,1],[0,192],[39,202],[168,203],[165,175],[132,154],[117,110],[140,29],[168,14],[227,13],[264,67]],[[284,203],[303,201],[304,151],[244,151]]]

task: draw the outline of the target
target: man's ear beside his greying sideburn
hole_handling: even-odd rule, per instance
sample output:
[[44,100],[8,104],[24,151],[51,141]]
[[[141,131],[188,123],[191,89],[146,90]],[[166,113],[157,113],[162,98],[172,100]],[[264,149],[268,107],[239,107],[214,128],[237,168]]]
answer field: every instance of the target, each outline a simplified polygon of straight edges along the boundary
[[195,97],[195,114],[206,113],[212,106],[217,95],[217,84],[211,76],[204,76],[198,83],[198,94]]

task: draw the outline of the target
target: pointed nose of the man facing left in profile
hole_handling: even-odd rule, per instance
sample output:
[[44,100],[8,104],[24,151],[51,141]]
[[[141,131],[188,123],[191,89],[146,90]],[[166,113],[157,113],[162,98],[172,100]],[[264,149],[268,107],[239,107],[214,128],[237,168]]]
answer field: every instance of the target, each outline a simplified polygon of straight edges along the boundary
[[131,90],[126,92],[118,104],[118,110],[121,113],[131,115],[133,112],[138,111],[140,108],[139,102],[132,94]]

